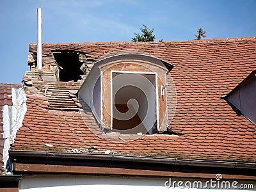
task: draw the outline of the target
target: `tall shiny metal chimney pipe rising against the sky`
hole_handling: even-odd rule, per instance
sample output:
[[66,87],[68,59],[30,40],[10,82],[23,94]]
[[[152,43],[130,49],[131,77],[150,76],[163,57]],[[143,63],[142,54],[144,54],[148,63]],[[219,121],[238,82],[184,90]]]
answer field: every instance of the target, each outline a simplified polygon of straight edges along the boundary
[[37,8],[37,69],[42,68],[42,8]]

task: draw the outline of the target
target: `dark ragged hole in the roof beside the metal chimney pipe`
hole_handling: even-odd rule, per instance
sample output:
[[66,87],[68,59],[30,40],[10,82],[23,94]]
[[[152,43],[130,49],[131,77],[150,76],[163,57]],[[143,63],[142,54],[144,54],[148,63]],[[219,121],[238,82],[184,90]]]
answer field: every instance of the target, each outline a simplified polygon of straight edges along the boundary
[[80,70],[80,67],[83,62],[79,61],[76,52],[61,51],[53,55],[54,60],[60,66],[60,81],[77,81],[81,79],[80,75],[83,75],[83,71]]

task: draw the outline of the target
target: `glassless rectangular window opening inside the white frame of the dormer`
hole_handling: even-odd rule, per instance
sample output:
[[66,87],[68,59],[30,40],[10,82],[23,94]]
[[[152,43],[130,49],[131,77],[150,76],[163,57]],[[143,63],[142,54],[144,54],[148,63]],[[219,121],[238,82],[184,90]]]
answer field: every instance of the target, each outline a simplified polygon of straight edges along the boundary
[[112,73],[114,132],[152,134],[156,126],[155,74]]

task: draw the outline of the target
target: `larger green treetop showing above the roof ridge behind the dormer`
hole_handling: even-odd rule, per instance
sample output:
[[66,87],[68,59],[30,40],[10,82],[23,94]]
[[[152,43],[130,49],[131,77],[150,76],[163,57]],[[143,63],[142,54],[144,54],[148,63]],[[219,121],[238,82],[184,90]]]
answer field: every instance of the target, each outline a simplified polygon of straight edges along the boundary
[[138,33],[134,33],[134,37],[132,38],[132,42],[154,42],[156,38],[153,35],[154,29],[148,29],[145,24],[143,24],[143,28],[140,28],[142,35]]

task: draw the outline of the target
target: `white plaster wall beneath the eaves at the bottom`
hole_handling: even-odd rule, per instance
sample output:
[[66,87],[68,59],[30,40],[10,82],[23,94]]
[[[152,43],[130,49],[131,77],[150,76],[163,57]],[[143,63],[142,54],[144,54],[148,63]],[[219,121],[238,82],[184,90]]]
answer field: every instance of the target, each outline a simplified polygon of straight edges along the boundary
[[[168,178],[155,177],[125,177],[125,176],[92,176],[92,175],[40,175],[22,176],[20,192],[56,192],[56,191],[209,191],[220,189],[180,189],[166,188],[164,183]],[[180,179],[182,180],[182,179]],[[184,180],[184,179],[183,179]],[[254,182],[254,188],[255,188]],[[234,192],[234,189],[221,189],[221,192]],[[248,190],[243,190],[248,191]]]

